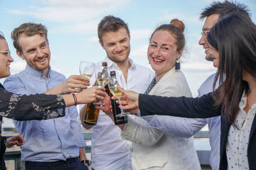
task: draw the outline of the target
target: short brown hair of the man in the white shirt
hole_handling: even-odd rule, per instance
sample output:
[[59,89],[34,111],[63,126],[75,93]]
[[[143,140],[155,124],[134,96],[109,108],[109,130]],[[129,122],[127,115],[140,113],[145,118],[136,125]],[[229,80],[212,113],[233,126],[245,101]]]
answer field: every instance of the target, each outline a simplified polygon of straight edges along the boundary
[[100,21],[98,25],[98,37],[100,39],[100,42],[102,43],[102,35],[106,32],[116,32],[120,28],[125,28],[127,31],[127,34],[130,35],[130,31],[128,28],[128,25],[125,24],[124,20],[118,17],[114,17],[112,15],[108,15]]

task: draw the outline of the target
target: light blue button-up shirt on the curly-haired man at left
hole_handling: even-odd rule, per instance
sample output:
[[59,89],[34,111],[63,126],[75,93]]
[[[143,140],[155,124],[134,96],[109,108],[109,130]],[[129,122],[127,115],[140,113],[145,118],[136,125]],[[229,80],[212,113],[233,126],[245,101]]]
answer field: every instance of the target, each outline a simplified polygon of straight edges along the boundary
[[[32,69],[28,65],[24,71],[6,78],[6,90],[17,94],[41,94],[62,83],[66,78],[49,67],[49,74]],[[77,121],[75,106],[66,108],[65,117],[51,120],[13,120],[25,143],[21,146],[23,161],[53,162],[79,156],[79,148],[86,146]]]

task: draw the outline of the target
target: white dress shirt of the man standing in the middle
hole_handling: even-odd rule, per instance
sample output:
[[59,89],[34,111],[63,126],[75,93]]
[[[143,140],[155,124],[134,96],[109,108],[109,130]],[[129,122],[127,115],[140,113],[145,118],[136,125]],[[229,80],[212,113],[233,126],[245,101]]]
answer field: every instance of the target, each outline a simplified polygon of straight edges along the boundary
[[[106,57],[102,62],[108,62],[111,69],[115,69],[116,76],[124,75],[118,66]],[[154,78],[154,73],[147,67],[140,66],[132,62],[127,74],[127,82],[124,89],[134,90],[143,93],[148,84]],[[95,170],[131,169],[131,142],[120,137],[120,128],[117,127],[111,118],[103,111],[99,112],[97,124],[93,126],[92,136],[92,167]]]

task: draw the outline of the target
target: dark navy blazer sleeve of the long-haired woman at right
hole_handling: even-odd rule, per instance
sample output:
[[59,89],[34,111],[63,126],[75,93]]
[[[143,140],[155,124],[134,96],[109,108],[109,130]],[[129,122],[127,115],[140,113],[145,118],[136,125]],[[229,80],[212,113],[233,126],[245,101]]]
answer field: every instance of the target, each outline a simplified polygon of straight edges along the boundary
[[221,115],[221,106],[214,106],[212,93],[202,97],[161,97],[140,94],[141,116],[168,115],[173,117],[209,118]]

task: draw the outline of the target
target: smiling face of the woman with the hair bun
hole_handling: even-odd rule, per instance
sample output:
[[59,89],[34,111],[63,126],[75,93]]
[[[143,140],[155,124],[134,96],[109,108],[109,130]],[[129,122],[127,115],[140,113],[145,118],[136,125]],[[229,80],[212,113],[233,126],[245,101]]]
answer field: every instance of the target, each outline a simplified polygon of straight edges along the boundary
[[168,31],[156,31],[148,45],[148,61],[159,80],[175,66],[175,60],[182,50],[177,52],[176,38]]

